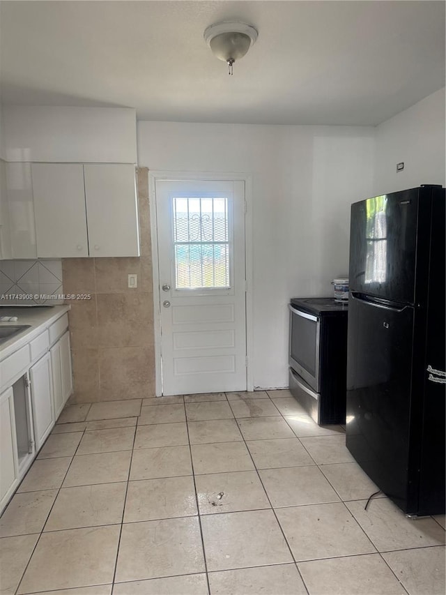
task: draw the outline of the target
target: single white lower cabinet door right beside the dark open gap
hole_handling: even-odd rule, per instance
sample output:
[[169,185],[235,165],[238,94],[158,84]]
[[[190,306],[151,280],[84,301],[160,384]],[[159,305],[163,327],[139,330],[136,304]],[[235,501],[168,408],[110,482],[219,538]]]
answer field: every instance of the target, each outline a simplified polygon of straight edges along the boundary
[[40,449],[54,425],[50,354],[47,353],[29,370],[33,405],[34,439]]

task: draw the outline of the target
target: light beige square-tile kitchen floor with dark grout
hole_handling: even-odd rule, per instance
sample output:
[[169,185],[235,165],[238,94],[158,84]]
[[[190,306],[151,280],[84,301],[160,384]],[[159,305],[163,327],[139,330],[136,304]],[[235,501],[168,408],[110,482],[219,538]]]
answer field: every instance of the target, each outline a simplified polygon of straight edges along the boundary
[[69,405],[0,519],[0,594],[443,595],[409,520],[289,391]]

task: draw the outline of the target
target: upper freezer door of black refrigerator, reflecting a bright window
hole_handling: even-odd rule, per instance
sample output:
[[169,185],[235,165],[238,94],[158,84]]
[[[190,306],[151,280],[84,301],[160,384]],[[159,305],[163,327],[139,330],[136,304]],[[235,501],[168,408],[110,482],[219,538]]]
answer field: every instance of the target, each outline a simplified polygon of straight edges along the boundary
[[414,188],[352,205],[351,291],[414,303],[418,194]]

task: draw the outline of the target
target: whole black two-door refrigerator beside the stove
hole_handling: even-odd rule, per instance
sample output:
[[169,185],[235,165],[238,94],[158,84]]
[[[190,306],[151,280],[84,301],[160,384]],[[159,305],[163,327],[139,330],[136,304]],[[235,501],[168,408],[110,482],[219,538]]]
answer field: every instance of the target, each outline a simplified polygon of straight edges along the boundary
[[445,190],[351,207],[346,444],[407,515],[445,512]]

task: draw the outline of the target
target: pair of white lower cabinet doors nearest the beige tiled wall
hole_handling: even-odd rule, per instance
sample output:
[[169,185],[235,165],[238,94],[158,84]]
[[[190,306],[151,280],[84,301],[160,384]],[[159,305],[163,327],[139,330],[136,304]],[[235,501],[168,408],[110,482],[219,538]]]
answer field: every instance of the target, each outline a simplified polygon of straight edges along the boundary
[[61,414],[63,405],[72,393],[70,333],[67,331],[49,350],[53,381],[54,419]]

